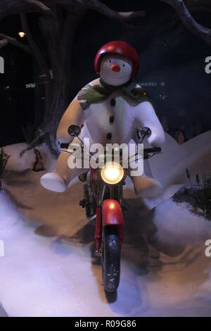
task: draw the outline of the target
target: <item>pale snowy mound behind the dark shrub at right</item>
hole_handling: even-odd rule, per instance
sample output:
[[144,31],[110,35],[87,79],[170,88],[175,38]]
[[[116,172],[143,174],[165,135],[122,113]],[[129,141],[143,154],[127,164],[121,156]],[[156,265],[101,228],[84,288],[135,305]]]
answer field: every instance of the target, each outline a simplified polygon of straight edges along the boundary
[[149,165],[153,177],[160,180],[165,187],[187,182],[186,168],[193,177],[202,170],[211,173],[211,130],[181,146],[166,134],[162,152],[163,154],[151,158]]

